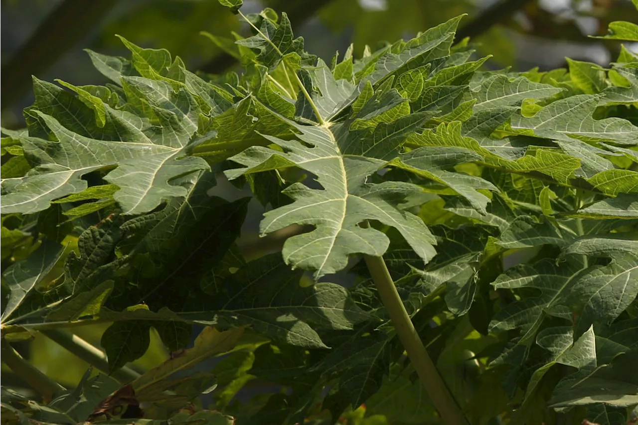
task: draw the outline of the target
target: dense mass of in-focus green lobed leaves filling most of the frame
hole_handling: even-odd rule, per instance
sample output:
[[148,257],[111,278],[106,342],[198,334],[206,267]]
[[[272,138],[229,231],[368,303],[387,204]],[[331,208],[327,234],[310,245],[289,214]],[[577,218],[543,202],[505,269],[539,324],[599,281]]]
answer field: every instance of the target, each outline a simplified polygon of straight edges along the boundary
[[[253,36],[213,37],[241,75],[122,38],[130,59],[89,52],[110,83],[34,79],[2,130],[0,358],[41,398],[0,387],[0,421],[441,423],[380,257],[469,423],[632,419],[638,56],[486,71],[456,18],[327,64],[285,14],[241,16]],[[262,234],[293,229],[281,253],[235,243],[245,187]],[[108,363],[63,331],[86,324]],[[140,376],[151,329],[172,355]],[[50,380],[10,345],[36,332],[104,374]],[[251,380],[277,389],[242,404]]]

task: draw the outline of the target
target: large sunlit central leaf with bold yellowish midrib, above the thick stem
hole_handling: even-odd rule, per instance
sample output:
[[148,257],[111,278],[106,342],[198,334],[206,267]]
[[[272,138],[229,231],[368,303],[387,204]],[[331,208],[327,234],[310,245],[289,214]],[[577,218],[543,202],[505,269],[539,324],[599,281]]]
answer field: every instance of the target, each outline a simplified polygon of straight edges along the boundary
[[366,177],[389,163],[404,137],[422,123],[420,116],[380,123],[365,141],[357,137],[358,131],[348,131],[348,124],[325,128],[290,122],[298,131],[299,140],[267,136],[286,152],[251,147],[232,157],[244,168],[228,170],[226,175],[232,179],[297,165],[318,176],[322,190],[293,184],[285,193],[295,202],[269,211],[261,223],[263,234],[292,224],[315,225],[316,229],[308,234],[288,239],[283,256],[294,267],[314,271],[316,278],[343,269],[348,255],[383,254],[389,244],[387,237],[374,228],[360,227],[364,220],[378,220],[397,228],[427,262],[434,255],[433,237],[422,221],[397,209],[404,197],[420,190],[418,186],[399,182],[366,184]]

